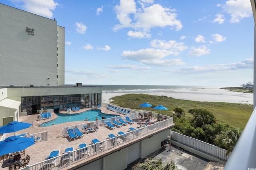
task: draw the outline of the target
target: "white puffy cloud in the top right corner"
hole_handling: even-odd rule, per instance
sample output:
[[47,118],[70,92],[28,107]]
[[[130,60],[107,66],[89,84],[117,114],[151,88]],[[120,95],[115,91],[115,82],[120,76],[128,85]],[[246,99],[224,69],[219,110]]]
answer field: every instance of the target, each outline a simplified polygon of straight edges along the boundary
[[238,23],[243,18],[252,16],[250,0],[228,0],[223,8],[231,15],[231,23]]

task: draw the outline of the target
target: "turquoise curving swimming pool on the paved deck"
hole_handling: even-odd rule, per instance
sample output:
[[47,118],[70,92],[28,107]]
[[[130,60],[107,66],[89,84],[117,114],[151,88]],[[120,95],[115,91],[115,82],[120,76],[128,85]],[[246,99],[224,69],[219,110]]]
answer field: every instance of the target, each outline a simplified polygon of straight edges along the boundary
[[77,114],[62,114],[62,113],[56,113],[58,115],[57,119],[54,119],[52,121],[48,121],[44,123],[45,126],[51,126],[52,124],[57,125],[60,123],[66,123],[70,121],[83,121],[88,118],[89,121],[95,121],[96,117],[98,117],[99,120],[101,120],[102,115],[104,117],[110,118],[110,117],[116,117],[120,115],[110,115],[110,114],[105,114],[102,113],[100,109],[91,109],[88,111],[84,111],[82,113],[77,113]]

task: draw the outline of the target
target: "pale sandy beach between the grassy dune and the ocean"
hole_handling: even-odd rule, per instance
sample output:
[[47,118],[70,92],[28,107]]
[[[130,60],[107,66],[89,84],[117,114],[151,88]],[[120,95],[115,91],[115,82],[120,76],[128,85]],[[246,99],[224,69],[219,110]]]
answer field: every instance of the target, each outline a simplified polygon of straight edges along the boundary
[[[102,93],[102,101],[110,102],[114,96],[122,96],[127,93]],[[193,100],[200,102],[226,102],[238,104],[253,104],[252,93],[230,92],[220,88],[195,88],[195,89],[170,89],[160,92],[147,92],[144,94],[156,96],[168,96],[175,99]]]

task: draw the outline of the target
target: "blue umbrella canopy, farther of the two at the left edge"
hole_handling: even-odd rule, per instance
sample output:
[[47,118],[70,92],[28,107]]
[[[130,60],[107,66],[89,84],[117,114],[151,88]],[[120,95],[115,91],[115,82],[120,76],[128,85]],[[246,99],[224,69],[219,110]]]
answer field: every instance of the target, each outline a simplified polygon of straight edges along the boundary
[[30,127],[31,125],[32,125],[31,123],[11,121],[7,125],[0,127],[0,134],[20,131],[22,129],[26,129],[26,128]]

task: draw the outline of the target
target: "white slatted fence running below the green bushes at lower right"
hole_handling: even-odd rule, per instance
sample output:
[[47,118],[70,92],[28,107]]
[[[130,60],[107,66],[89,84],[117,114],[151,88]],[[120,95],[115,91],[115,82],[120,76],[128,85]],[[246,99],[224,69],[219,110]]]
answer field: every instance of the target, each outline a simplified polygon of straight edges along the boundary
[[201,152],[210,154],[211,156],[220,158],[225,161],[228,160],[229,155],[230,155],[230,154],[226,155],[226,153],[227,153],[226,149],[216,147],[209,143],[200,141],[198,139],[194,139],[192,137],[188,137],[186,135],[182,135],[182,134],[174,132],[174,131],[171,131],[171,139],[173,141],[177,141],[178,143],[181,143],[188,147],[192,147],[193,149],[196,149],[196,150],[200,150]]

